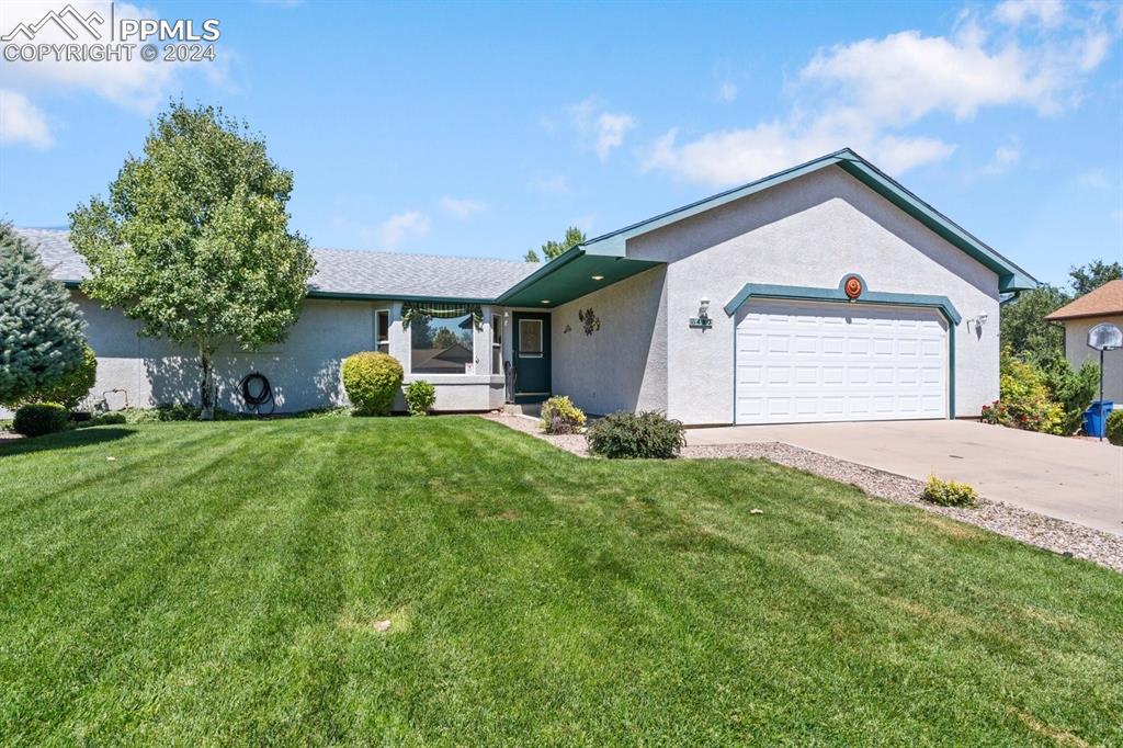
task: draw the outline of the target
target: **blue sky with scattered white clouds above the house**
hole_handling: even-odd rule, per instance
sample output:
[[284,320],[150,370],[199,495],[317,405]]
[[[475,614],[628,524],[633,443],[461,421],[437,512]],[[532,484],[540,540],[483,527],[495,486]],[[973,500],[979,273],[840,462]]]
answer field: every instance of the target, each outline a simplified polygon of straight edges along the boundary
[[183,97],[266,136],[314,246],[519,258],[849,145],[1040,280],[1123,257],[1121,3],[137,4],[217,61],[0,61],[3,218],[65,225]]

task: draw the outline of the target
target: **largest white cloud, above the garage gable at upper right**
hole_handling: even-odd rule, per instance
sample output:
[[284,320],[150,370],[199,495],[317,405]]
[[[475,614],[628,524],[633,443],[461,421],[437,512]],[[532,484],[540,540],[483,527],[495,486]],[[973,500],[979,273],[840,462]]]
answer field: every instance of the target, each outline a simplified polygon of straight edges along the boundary
[[[1102,13],[1025,12],[1051,24],[1048,33],[1012,30],[1012,20],[966,11],[947,36],[901,31],[821,49],[795,77],[785,116],[685,139],[672,129],[649,147],[643,168],[721,186],[850,146],[900,174],[957,148],[913,131],[928,117],[966,120],[1003,106],[1051,116],[1076,106],[1087,73],[1114,40]],[[1020,153],[1004,148],[995,163],[1008,167]]]

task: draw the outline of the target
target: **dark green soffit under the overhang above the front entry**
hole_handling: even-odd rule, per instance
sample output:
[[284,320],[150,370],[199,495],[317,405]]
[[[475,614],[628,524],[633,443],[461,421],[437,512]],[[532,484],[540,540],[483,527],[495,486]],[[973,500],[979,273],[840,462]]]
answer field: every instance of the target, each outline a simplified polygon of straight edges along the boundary
[[[496,303],[553,309],[661,264],[647,259],[587,254],[582,247],[575,247],[505,292]],[[594,275],[601,280],[593,280]]]

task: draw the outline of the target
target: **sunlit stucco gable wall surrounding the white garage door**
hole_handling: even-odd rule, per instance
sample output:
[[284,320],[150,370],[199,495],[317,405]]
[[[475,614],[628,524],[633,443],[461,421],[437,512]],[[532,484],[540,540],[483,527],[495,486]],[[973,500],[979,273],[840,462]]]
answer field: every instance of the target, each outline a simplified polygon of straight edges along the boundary
[[[837,167],[637,237],[628,255],[668,263],[667,412],[686,423],[732,422],[736,320],[722,307],[746,283],[837,289],[848,273],[868,291],[948,297],[964,317],[956,414],[998,396],[997,275]],[[691,329],[703,298],[713,328]]]

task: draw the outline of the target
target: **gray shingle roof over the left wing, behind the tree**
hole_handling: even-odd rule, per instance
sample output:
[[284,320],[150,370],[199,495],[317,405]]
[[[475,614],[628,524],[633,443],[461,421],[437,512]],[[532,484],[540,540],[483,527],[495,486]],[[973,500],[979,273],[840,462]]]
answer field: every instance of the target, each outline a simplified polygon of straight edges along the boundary
[[[38,248],[43,263],[58,281],[82,281],[85,262],[71,248],[70,231],[16,229]],[[541,267],[536,263],[477,259],[393,252],[312,249],[316,275],[309,291],[410,299],[495,299]]]

